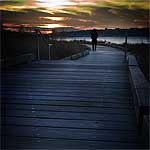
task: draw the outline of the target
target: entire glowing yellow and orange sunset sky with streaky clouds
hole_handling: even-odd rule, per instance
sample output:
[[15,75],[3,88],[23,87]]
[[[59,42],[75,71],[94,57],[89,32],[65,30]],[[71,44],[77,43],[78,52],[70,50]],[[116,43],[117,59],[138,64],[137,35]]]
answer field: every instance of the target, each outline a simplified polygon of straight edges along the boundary
[[146,27],[149,8],[149,0],[0,1],[4,25],[43,28]]

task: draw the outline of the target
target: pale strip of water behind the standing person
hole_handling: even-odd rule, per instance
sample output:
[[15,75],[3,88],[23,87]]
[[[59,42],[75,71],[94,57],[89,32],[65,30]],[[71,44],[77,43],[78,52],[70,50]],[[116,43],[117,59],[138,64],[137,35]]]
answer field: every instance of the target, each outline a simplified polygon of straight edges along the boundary
[[[67,37],[58,40],[65,41],[74,41],[74,40],[84,40],[91,41],[90,37]],[[116,44],[122,44],[125,42],[125,37],[98,37],[98,41],[107,41]],[[128,43],[136,44],[136,43],[149,43],[147,37],[128,37]]]

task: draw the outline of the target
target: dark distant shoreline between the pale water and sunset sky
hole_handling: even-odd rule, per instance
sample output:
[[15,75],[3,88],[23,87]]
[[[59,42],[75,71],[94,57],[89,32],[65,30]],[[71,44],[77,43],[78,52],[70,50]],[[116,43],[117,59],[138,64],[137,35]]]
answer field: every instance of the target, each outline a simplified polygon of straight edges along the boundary
[[[4,30],[4,29],[3,29]],[[43,29],[39,29],[41,32],[44,32],[45,30]],[[8,32],[16,32],[16,31],[11,31],[11,30],[4,30],[4,31],[8,31]],[[18,29],[19,31],[19,29]],[[26,31],[26,30],[25,30]],[[29,30],[27,30],[29,31]],[[47,31],[51,31],[50,29]],[[92,30],[77,30],[77,31],[61,31],[61,30],[57,30],[54,29],[54,35],[56,37],[88,37]],[[101,37],[125,37],[126,35],[128,37],[149,37],[149,32],[150,32],[150,28],[130,28],[130,29],[101,29],[101,30],[97,30],[98,34]],[[25,32],[25,33],[34,33],[34,30],[32,30],[32,32]],[[47,35],[52,35],[52,34],[47,34]]]

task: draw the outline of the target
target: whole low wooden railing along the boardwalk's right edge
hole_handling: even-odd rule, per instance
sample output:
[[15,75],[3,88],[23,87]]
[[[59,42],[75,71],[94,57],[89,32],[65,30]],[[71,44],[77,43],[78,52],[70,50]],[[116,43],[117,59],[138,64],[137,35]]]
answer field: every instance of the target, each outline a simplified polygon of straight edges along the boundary
[[134,98],[137,123],[142,144],[145,148],[149,147],[149,83],[141,72],[136,58],[129,55],[129,80],[131,91]]

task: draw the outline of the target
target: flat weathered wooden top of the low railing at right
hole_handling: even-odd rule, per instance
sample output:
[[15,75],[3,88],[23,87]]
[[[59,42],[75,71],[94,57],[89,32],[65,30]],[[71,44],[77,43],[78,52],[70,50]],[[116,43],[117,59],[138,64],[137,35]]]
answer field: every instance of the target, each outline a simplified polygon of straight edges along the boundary
[[136,110],[137,123],[139,129],[142,130],[143,117],[149,115],[150,99],[149,99],[149,83],[139,68],[134,56],[129,56],[129,80],[133,93],[134,106]]

